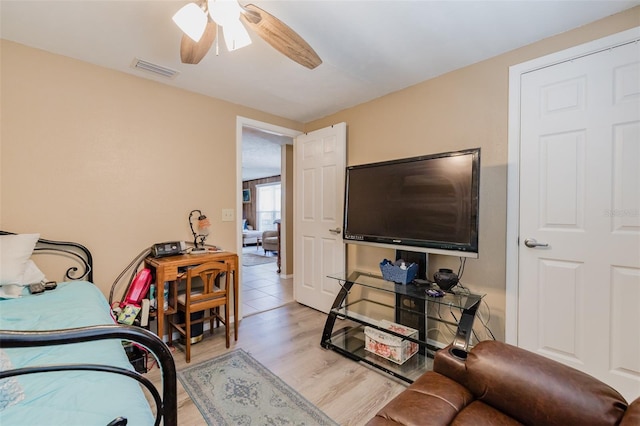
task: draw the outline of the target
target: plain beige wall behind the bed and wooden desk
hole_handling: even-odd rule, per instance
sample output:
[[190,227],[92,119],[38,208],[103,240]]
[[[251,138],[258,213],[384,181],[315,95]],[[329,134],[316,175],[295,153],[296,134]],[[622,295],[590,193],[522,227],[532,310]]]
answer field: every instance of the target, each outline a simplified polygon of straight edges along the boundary
[[211,219],[208,243],[236,250],[238,227],[221,220],[240,196],[236,116],[302,127],[5,40],[1,48],[0,229],[85,244],[105,293],[144,248],[189,240],[192,209]]

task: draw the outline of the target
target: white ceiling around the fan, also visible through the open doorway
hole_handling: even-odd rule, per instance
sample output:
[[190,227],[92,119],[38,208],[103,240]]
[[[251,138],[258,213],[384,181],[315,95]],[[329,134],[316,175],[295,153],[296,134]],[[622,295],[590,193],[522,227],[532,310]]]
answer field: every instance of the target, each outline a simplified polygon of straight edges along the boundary
[[[314,70],[289,60],[255,33],[248,47],[227,52],[221,43],[218,56],[212,48],[198,65],[180,63],[181,32],[171,17],[186,3],[0,0],[0,37],[304,123],[640,0],[255,1],[315,49],[323,63]],[[135,58],[179,74],[170,80],[133,69]],[[279,164],[267,165],[267,158],[279,161],[280,142],[278,148],[259,150],[256,137],[251,135],[245,147],[244,161],[256,163],[251,174],[247,164],[246,179],[279,170]]]

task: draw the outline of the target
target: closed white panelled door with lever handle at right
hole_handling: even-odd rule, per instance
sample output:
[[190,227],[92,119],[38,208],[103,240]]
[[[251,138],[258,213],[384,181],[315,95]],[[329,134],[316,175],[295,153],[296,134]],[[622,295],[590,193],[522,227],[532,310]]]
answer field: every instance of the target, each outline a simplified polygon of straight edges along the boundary
[[518,346],[640,396],[640,46],[521,80]]

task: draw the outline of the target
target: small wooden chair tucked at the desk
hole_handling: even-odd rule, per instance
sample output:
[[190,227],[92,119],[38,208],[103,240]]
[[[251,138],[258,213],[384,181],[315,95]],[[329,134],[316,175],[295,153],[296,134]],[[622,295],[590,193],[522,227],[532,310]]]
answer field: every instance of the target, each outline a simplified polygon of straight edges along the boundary
[[[185,292],[178,294],[178,284],[186,276]],[[194,279],[200,277],[203,287],[194,288]],[[196,281],[197,282],[197,281]],[[213,334],[214,321],[217,327],[224,324],[229,347],[229,296],[232,285],[231,267],[228,263],[208,262],[188,269],[186,274],[178,277],[178,282],[172,286],[169,304],[175,312],[184,313],[184,322],[176,322],[174,314],[169,318],[169,345],[173,343],[173,329],[176,329],[185,339],[187,362],[191,361],[191,326],[209,321],[209,332]],[[224,318],[220,315],[220,307],[224,306]],[[204,311],[200,319],[191,320],[191,314]]]

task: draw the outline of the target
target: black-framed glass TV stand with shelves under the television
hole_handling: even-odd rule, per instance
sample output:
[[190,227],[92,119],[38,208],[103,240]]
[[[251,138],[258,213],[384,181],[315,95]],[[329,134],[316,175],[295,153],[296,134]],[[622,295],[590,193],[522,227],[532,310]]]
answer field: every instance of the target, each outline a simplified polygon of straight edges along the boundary
[[[357,271],[331,274],[329,278],[338,280],[341,288],[324,326],[322,347],[409,383],[432,369],[435,351],[441,347],[451,344],[456,350],[467,351],[483,295],[447,292],[443,297],[431,297],[426,293],[431,288],[428,285],[395,284],[381,276]],[[448,318],[439,315],[442,309],[451,315]],[[381,325],[386,321],[418,330],[417,338],[383,328]],[[402,364],[389,361],[365,350],[365,327],[415,342],[419,350]],[[438,327],[451,328],[453,341],[442,342],[430,337]]]

